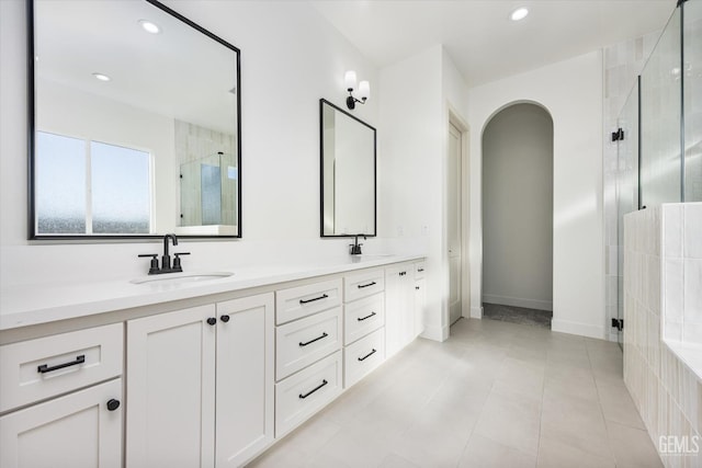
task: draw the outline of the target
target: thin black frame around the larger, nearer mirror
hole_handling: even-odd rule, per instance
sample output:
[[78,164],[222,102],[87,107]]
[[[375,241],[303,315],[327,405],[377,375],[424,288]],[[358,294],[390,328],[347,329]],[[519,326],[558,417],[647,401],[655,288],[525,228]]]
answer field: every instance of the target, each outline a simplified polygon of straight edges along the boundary
[[[237,184],[237,233],[236,236],[191,236],[182,235],[179,238],[182,239],[240,239],[241,236],[241,50],[224,41],[222,37],[211,33],[195,22],[189,20],[177,11],[166,7],[158,0],[144,0],[147,3],[152,4],[159,10],[170,14],[171,16],[180,20],[185,25],[194,28],[195,31],[204,34],[211,39],[219,43],[220,45],[231,49],[236,53],[236,67],[237,67],[237,171],[238,171],[238,184]],[[29,240],[140,240],[140,239],[161,239],[163,235],[105,235],[105,236],[89,236],[89,235],[38,235],[36,233],[35,218],[35,178],[34,178],[34,155],[36,150],[36,96],[35,96],[35,70],[34,70],[34,2],[35,0],[26,0],[26,26],[27,26],[27,239]]]

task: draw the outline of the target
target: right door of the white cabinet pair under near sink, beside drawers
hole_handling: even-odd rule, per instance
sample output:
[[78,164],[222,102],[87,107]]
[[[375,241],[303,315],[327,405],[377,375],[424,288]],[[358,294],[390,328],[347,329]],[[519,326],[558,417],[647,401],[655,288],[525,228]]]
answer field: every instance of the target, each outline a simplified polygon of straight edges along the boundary
[[273,441],[273,294],[217,304],[216,466]]

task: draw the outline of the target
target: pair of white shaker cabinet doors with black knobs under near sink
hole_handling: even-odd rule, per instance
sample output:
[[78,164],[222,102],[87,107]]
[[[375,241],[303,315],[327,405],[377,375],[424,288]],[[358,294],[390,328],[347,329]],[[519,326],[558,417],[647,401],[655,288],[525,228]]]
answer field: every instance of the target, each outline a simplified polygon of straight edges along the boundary
[[241,466],[273,440],[273,295],[127,321],[127,466]]

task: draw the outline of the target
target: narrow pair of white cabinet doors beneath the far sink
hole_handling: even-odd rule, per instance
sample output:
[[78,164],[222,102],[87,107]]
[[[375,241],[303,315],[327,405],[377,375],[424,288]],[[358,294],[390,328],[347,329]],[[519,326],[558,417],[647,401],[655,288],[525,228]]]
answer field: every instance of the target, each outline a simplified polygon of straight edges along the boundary
[[385,270],[385,353],[388,357],[415,339],[412,267],[400,263]]

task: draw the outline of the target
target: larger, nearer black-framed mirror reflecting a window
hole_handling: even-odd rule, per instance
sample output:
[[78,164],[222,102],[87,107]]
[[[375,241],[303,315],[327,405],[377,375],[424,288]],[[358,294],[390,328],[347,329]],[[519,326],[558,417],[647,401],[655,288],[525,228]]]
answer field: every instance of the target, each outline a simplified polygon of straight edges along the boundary
[[156,0],[29,0],[30,238],[241,237],[240,53]]

